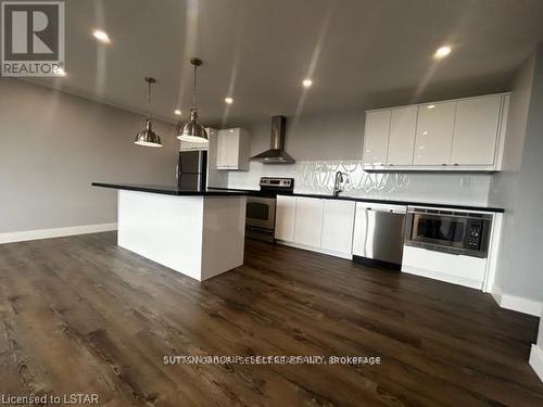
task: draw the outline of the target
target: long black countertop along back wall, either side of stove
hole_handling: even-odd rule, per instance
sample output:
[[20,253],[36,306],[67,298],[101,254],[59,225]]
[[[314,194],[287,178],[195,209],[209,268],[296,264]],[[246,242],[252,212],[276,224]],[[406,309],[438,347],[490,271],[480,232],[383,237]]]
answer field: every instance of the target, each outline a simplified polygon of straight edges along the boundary
[[[264,195],[264,193],[258,190],[242,190],[242,189],[223,189],[224,191],[238,191],[245,192],[249,195]],[[481,211],[481,212],[494,212],[494,213],[503,213],[504,208],[502,207],[491,207],[491,206],[471,206],[471,205],[454,205],[454,204],[445,204],[445,203],[434,203],[434,202],[417,202],[417,201],[393,201],[393,200],[376,200],[370,198],[358,198],[358,196],[332,196],[325,194],[316,194],[316,193],[278,193],[279,195],[291,195],[291,196],[306,196],[306,198],[318,198],[324,200],[342,200],[342,201],[355,201],[355,202],[367,202],[367,203],[376,203],[376,204],[384,204],[384,205],[404,205],[404,206],[428,206],[435,208],[449,208],[449,209],[458,209],[458,211]]]

